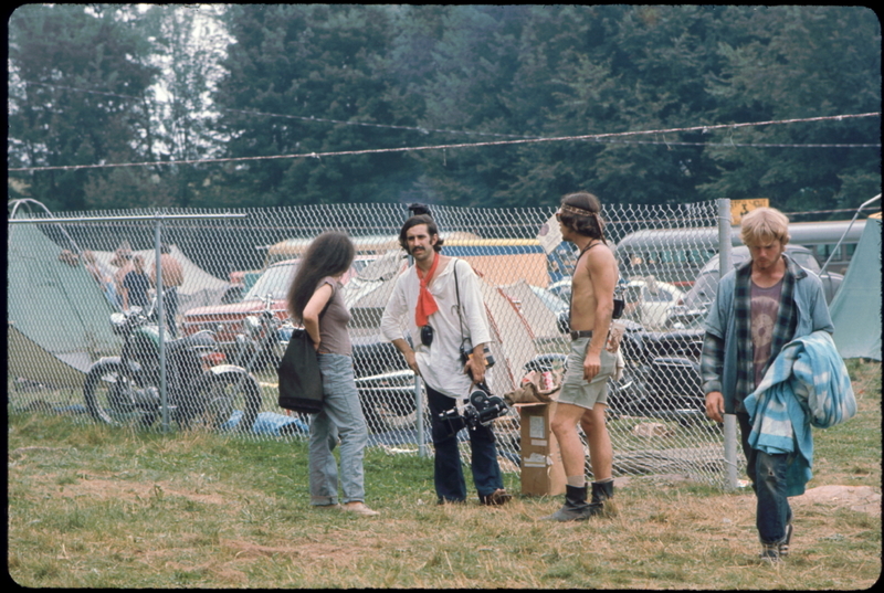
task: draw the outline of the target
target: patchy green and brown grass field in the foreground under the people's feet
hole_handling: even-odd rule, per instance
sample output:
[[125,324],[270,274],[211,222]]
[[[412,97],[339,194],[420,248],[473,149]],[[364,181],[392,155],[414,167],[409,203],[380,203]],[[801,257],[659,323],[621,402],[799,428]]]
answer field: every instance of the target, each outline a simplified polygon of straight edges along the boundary
[[[880,493],[881,366],[850,368],[860,413],[814,432],[808,487]],[[844,500],[793,499],[792,554],[769,566],[751,494],[672,476],[620,480],[614,518],[552,525],[537,519],[560,497],[438,507],[430,459],[376,448],[382,515],[360,518],[309,507],[299,442],[17,413],[8,451],[8,570],[28,587],[861,590],[881,574],[880,513]]]

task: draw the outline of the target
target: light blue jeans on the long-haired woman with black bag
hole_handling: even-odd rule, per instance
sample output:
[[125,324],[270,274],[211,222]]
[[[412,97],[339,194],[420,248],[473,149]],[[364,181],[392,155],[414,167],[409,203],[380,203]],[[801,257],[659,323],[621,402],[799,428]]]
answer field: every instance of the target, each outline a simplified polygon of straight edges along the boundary
[[323,411],[311,422],[311,504],[338,502],[338,465],[333,453],[338,437],[341,502],[364,502],[362,456],[368,443],[368,428],[356,391],[352,359],[345,354],[319,354],[318,359],[323,375]]

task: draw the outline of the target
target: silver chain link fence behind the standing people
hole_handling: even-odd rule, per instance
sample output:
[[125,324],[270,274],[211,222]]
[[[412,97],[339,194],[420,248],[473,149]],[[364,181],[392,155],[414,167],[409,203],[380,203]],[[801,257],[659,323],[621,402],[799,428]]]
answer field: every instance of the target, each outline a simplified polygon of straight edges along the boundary
[[[576,262],[557,236],[555,208],[431,213],[443,253],[470,262],[482,278],[497,361],[492,390],[509,394],[538,377],[555,383],[568,349],[562,321]],[[722,485],[722,431],[705,419],[698,378],[702,307],[688,295],[718,252],[717,205],[622,204],[603,214],[627,322],[624,373],[610,384],[614,474]],[[408,265],[397,241],[408,215],[403,204],[329,204],[53,218],[34,203],[10,203],[9,410],[154,431],[305,437],[309,417],[276,404],[276,363],[292,331],[285,293],[309,241],[345,230],[357,247],[345,300],[370,444],[430,451],[428,412],[415,407],[420,383],[379,331]],[[516,409],[495,426],[502,466],[517,472]],[[466,443],[462,451],[469,458]]]

